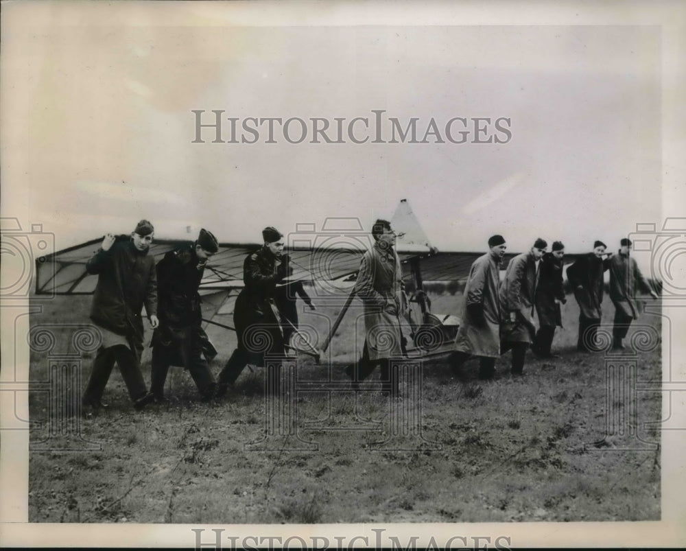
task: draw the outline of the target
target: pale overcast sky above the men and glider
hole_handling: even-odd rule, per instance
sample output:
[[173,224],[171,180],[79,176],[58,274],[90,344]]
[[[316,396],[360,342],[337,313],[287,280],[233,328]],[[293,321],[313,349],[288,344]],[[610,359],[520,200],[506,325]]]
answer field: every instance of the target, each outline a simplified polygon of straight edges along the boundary
[[[12,185],[29,187],[32,222],[58,248],[139,218],[158,237],[204,226],[224,242],[331,216],[368,227],[402,198],[441,250],[483,250],[493,233],[510,250],[539,236],[615,249],[637,222],[661,220],[657,27],[203,21],[45,18],[3,36],[23,90],[3,102],[21,121]],[[254,144],[209,143],[211,130],[191,143],[198,109],[332,123],[381,109],[418,117],[420,137],[431,117],[441,131],[453,117],[507,117],[511,139],[292,144],[277,130],[267,144],[262,128]]]

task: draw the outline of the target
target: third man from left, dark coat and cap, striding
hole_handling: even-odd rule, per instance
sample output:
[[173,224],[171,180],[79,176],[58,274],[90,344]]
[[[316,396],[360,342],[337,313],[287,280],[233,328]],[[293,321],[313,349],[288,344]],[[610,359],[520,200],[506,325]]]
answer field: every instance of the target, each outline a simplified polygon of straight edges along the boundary
[[[264,245],[246,257],[243,264],[245,287],[236,298],[233,320],[236,326],[238,347],[226,362],[217,379],[217,397],[226,394],[241,371],[248,364],[263,365],[265,357],[274,363],[275,386],[268,392],[277,392],[279,358],[285,353],[281,315],[274,303],[276,283],[285,279],[288,264],[283,262],[283,234],[269,226],[262,231]],[[270,377],[268,377],[268,381]]]

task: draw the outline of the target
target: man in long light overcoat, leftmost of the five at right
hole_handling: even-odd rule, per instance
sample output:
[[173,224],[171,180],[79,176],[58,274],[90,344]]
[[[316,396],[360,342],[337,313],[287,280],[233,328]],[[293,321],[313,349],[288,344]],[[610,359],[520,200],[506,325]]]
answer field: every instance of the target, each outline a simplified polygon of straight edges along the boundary
[[479,357],[479,377],[482,379],[493,377],[495,360],[500,355],[499,266],[507,249],[501,235],[490,237],[488,246],[490,251],[477,258],[469,270],[462,323],[455,339],[456,351],[450,358],[453,371],[459,373],[466,360]]

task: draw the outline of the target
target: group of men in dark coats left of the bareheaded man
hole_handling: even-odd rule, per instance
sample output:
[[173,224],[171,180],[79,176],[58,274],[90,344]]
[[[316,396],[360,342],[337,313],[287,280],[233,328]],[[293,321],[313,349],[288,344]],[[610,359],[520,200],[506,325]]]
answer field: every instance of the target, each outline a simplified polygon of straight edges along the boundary
[[[189,371],[206,401],[226,394],[246,365],[263,365],[269,357],[274,360],[269,390],[278,392],[279,360],[298,324],[296,296],[316,307],[300,281],[276,288],[293,270],[283,254],[283,235],[268,227],[262,236],[264,245],[244,262],[245,286],[234,311],[238,346],[216,381],[209,362],[217,351],[202,329],[198,292],[206,263],[219,249],[216,237],[203,228],[193,244],[170,250],[157,264],[148,255],[154,237],[149,221],[141,220],[130,236],[104,237],[86,263],[86,271],[98,275],[91,320],[102,335],[82,397],[86,414],[106,407],[102,394],[115,363],[137,410],[165,401],[172,365]],[[141,373],[143,307],[154,329],[150,390]]]

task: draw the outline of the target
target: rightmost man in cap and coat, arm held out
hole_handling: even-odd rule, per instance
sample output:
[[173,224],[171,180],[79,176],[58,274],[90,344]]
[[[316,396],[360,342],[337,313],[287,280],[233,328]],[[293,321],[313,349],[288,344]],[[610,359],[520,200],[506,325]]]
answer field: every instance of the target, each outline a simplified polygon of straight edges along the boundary
[[639,318],[635,297],[639,290],[657,298],[648,281],[632,257],[629,256],[631,241],[626,237],[619,242],[619,254],[610,259],[610,299],[615,305],[615,325],[613,327],[613,348],[623,349],[622,340],[629,331],[633,320]]

